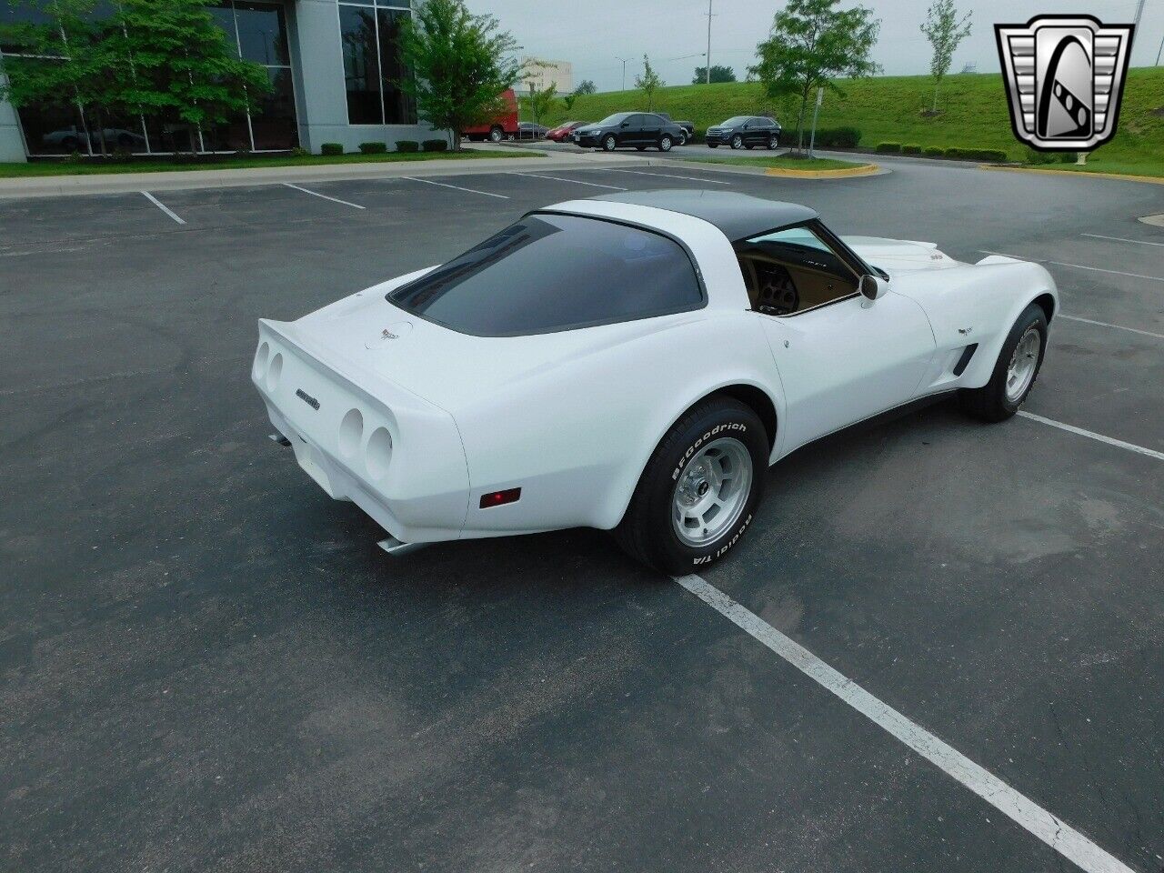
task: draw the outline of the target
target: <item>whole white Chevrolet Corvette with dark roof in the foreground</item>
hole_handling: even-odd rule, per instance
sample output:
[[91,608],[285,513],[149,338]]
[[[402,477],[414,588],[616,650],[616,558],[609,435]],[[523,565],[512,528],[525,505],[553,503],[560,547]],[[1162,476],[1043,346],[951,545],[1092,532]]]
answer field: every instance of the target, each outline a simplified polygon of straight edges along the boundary
[[386,551],[589,526],[688,573],[807,442],[953,391],[1013,416],[1057,310],[1038,264],[652,191],[548,206],[443,265],[262,319],[251,378],[272,439]]

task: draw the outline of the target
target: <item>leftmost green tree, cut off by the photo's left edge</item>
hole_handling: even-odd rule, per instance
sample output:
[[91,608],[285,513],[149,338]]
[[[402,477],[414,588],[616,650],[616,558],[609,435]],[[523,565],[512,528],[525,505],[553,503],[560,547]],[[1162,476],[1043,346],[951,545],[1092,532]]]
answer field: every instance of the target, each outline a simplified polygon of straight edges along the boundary
[[[0,42],[21,49],[21,55],[5,58],[8,84],[0,85],[0,99],[17,108],[76,109],[83,132],[78,141],[108,154],[105,119],[123,108],[115,87],[122,57],[109,28],[94,22],[95,0],[43,0],[28,6],[51,23],[0,26]],[[93,135],[86,112],[97,122]]]

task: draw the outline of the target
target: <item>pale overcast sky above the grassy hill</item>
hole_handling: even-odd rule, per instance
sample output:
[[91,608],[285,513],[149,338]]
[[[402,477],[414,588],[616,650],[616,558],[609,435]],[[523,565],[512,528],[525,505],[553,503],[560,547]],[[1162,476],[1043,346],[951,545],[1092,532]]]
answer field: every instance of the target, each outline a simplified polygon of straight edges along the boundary
[[[525,54],[574,64],[575,84],[592,79],[599,91],[617,90],[623,64],[626,86],[641,71],[643,54],[668,85],[690,84],[696,66],[703,65],[707,44],[708,0],[467,0],[477,13],[491,13],[523,45]],[[861,0],[881,19],[881,38],[874,59],[886,73],[929,71],[929,43],[917,29],[925,20],[931,0]],[[772,26],[782,7],[772,0],[712,0],[711,63],[726,64],[743,79],[755,61],[755,44]],[[843,0],[842,6],[857,6]],[[1130,22],[1136,0],[956,0],[959,9],[973,10],[973,33],[954,55],[952,70],[966,63],[980,72],[998,72],[995,23],[1025,23],[1043,13],[1090,13],[1105,23]],[[1133,50],[1133,65],[1155,62],[1164,36],[1164,0],[1147,0]],[[697,55],[697,57],[683,57]],[[679,59],[682,58],[682,59]]]

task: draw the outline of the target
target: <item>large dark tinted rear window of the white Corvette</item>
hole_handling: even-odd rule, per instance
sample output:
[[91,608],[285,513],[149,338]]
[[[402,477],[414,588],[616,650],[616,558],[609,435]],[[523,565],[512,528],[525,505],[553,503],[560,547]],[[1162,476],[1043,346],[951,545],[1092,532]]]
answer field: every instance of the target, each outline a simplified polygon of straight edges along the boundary
[[662,234],[538,213],[388,294],[461,333],[517,336],[703,305],[691,258]]

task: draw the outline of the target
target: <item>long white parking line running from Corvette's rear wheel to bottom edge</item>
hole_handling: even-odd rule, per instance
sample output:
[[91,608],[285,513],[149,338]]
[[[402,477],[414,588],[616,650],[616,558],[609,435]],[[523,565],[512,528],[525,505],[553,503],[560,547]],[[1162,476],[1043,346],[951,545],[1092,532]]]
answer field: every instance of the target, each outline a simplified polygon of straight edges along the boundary
[[944,771],[1015,823],[1020,824],[1087,873],[1133,873],[1079,831],[1023,796],[958,750],[874,697],[851,679],[835,670],[799,643],[785,636],[754,612],[741,606],[698,576],[675,581],[728,618],[740,630],[771,648],[788,663],[839,697],[882,730],[904,743],[922,758]]

